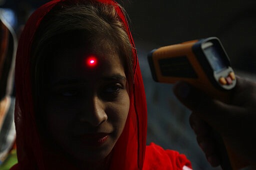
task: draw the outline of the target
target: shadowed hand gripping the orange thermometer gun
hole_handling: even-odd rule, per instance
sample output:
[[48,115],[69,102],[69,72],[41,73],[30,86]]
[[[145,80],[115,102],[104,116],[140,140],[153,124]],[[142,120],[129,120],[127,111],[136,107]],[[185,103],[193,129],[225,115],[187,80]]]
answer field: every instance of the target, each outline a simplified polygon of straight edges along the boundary
[[190,125],[207,160],[214,167],[219,164],[219,155],[209,133],[211,128],[228,142],[232,151],[251,165],[256,162],[256,83],[240,77],[236,80],[230,104],[212,99],[184,82],[173,88],[180,102],[192,111]]

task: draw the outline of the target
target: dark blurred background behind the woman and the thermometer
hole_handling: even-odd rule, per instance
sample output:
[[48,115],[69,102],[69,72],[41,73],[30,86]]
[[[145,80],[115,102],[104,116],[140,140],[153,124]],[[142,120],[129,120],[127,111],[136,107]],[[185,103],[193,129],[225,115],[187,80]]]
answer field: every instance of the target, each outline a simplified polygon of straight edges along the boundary
[[[0,0],[16,12],[15,30],[48,0]],[[218,37],[235,73],[256,80],[255,0],[117,0],[126,9],[137,47],[148,104],[147,144],[187,156],[194,170],[211,168],[188,125],[190,112],[174,97],[172,85],[153,82],[146,55],[153,48],[187,40]]]

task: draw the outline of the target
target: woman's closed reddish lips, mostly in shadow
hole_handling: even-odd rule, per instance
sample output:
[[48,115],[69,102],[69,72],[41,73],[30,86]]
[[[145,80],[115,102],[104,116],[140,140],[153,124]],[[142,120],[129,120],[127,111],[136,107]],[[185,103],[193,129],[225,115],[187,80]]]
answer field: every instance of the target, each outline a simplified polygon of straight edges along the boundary
[[108,137],[107,133],[83,134],[78,136],[78,140],[85,146],[98,147],[103,145]]

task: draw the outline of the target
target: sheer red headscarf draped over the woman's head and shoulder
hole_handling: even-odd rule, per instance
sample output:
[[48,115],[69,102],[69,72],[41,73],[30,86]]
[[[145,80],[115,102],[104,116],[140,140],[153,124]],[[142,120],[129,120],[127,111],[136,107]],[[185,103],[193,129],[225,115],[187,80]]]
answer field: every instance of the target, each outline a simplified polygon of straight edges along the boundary
[[[58,153],[52,154],[47,151],[49,150],[48,147],[43,146],[42,141],[40,141],[40,134],[35,125],[29,65],[30,48],[35,30],[44,15],[54,5],[62,1],[66,0],[52,0],[39,7],[28,19],[19,39],[15,68],[15,124],[18,164],[12,170],[73,169],[71,165],[65,164],[65,158]],[[126,18],[116,2],[113,0],[98,1],[115,6],[126,27],[131,46],[134,47]],[[134,79],[132,92],[129,93],[130,108],[124,130],[113,148],[110,170],[142,170],[143,164],[145,170],[150,169],[151,165],[157,170],[162,170],[162,166],[171,167],[173,170],[179,169],[177,166],[180,168],[182,165],[191,166],[185,158],[171,152],[165,152],[156,145],[146,149],[146,100],[136,50],[135,48],[132,49]],[[182,165],[174,163],[176,159],[180,162],[178,164]]]

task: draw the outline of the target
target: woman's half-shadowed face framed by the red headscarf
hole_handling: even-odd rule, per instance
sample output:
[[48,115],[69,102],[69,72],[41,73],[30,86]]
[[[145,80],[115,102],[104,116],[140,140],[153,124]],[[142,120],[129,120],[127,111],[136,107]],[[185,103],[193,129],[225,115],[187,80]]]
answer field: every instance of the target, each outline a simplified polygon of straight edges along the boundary
[[[94,65],[87,59],[94,56]],[[63,49],[48,65],[46,125],[73,159],[97,162],[111,152],[125,125],[129,96],[124,68],[109,45]]]

